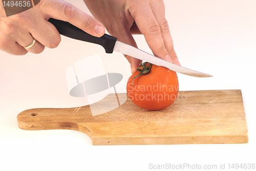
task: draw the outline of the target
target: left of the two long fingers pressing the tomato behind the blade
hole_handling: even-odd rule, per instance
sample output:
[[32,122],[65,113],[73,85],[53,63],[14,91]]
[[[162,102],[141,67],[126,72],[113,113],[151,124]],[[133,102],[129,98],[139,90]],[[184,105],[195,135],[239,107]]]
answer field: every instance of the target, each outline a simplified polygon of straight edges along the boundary
[[150,4],[142,2],[144,1],[137,1],[138,4],[131,9],[130,13],[155,56],[170,60],[161,35],[160,26],[151,10]]

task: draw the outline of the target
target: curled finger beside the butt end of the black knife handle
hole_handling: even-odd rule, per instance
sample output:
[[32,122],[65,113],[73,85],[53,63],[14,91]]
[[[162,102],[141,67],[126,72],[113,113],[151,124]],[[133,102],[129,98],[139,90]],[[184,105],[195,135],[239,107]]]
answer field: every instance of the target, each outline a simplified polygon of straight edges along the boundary
[[35,22],[37,26],[40,27],[31,27],[29,31],[31,35],[42,45],[55,48],[59,45],[61,38],[57,29],[52,25],[52,23],[48,22],[47,20],[41,18]]

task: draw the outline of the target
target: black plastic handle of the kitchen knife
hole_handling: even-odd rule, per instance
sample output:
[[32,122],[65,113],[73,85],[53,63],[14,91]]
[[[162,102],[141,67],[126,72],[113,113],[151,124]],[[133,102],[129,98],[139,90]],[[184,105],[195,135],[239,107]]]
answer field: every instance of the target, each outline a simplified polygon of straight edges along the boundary
[[61,21],[54,18],[50,18],[48,21],[51,22],[56,27],[59,34],[63,36],[94,44],[99,44],[104,47],[106,53],[113,53],[117,41],[116,37],[110,36],[108,34],[104,34],[102,37],[95,37],[75,27],[69,22]]

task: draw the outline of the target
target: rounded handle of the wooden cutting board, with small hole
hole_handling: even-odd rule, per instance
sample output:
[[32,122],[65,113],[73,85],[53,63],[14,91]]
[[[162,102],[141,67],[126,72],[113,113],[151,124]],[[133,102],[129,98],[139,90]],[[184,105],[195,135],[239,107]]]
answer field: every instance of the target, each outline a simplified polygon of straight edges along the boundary
[[[84,106],[82,108],[88,108]],[[54,129],[68,129],[76,130],[86,133],[92,138],[91,131],[85,125],[75,121],[81,116],[77,116],[78,108],[41,108],[29,109],[18,114],[18,126],[24,130],[54,130]],[[82,116],[86,121],[86,116]]]

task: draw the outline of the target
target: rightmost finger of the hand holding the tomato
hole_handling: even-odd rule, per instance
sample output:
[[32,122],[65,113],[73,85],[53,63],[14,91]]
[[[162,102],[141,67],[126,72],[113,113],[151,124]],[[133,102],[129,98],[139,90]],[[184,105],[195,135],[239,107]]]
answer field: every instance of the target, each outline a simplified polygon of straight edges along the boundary
[[164,10],[163,1],[162,0],[151,1],[150,6],[153,11],[153,14],[155,15],[155,17],[157,19],[157,22],[159,23],[162,38],[164,41],[164,45],[170,55],[170,58],[172,59],[172,61],[175,64],[180,65],[180,62],[179,62],[177,55],[175,53],[175,50],[174,50],[173,39],[172,39],[172,36],[170,35],[168,22],[165,18],[165,10]]

